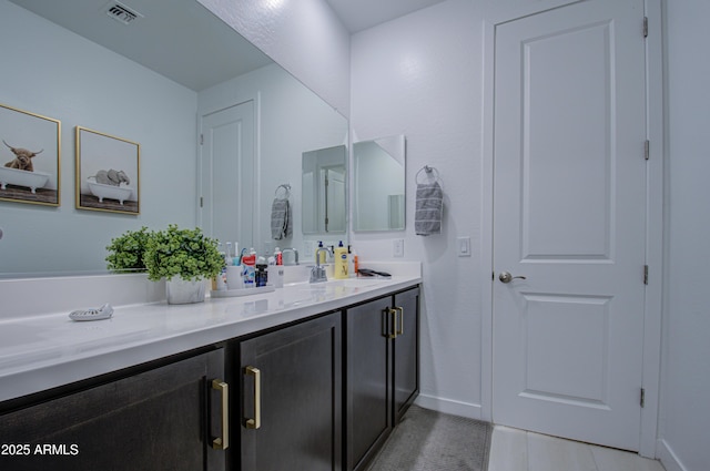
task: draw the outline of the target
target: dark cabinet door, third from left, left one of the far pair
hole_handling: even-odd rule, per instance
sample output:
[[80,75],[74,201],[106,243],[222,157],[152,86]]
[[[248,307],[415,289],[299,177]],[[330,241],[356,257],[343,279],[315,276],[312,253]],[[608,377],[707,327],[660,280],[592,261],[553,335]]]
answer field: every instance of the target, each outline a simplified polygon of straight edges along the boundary
[[390,345],[387,296],[346,314],[347,469],[361,469],[392,430]]

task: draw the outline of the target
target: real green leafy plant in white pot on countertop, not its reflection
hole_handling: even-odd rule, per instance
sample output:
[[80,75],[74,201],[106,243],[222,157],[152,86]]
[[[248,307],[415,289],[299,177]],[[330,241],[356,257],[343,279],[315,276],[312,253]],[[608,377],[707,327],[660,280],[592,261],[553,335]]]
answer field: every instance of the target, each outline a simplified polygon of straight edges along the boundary
[[181,229],[171,224],[151,234],[143,255],[148,279],[165,279],[169,304],[204,301],[205,279],[224,267],[215,239],[200,228]]

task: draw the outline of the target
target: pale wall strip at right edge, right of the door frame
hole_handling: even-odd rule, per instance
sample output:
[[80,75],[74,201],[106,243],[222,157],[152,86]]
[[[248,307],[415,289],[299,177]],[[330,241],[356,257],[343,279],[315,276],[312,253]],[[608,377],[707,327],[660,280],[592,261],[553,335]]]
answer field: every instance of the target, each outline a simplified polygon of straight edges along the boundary
[[[710,3],[667,1],[667,274],[663,311],[661,441],[669,471],[710,469],[710,260],[708,124]],[[676,468],[678,465],[679,468]]]

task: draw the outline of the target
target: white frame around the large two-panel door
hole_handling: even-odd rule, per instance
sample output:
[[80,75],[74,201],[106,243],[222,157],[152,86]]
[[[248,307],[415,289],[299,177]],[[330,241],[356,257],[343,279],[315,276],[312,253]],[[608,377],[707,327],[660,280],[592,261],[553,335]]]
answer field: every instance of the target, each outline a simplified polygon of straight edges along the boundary
[[[495,34],[499,24],[561,8],[578,1],[594,0],[544,0],[535,6],[518,2],[515,7],[489,7],[484,20],[484,84],[483,84],[483,177],[481,191],[484,208],[481,227],[481,419],[494,421],[493,417],[493,219],[494,219],[494,90],[495,90]],[[645,407],[641,409],[639,454],[648,458],[657,455],[657,432],[659,416],[661,324],[663,289],[663,205],[665,205],[665,141],[663,141],[663,51],[661,1],[643,0],[648,18],[649,34],[646,39],[646,122],[650,141],[650,158],[647,166],[647,223],[646,259],[649,266],[648,285],[645,293],[643,314],[643,359],[642,387]],[[491,2],[493,3],[493,2]],[[528,2],[529,3],[529,2]],[[498,8],[498,10],[496,10]],[[640,33],[639,25],[639,33]]]

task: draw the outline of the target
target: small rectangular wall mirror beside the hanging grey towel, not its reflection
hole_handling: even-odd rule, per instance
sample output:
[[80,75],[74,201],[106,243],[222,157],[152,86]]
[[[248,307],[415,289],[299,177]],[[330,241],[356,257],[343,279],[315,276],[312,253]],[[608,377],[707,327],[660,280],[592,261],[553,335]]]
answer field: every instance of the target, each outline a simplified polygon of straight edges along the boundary
[[353,144],[353,231],[404,231],[404,135]]

